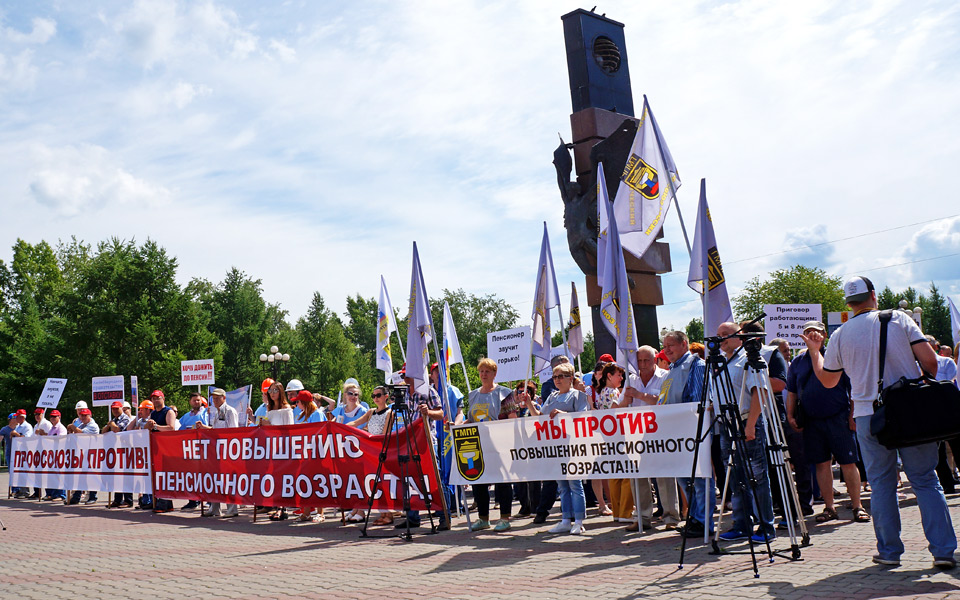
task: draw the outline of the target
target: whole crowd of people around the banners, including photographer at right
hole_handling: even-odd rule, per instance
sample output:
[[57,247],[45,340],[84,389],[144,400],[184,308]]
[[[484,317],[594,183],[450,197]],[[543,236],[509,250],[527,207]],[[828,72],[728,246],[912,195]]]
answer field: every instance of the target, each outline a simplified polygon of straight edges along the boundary
[[[748,369],[747,352],[736,333],[762,333],[760,324],[721,324],[714,333],[719,343],[723,363],[730,375],[732,389],[737,391],[736,403],[743,439],[731,439],[729,431],[715,427],[713,436],[712,478],[690,480],[678,478],[613,478],[590,481],[525,481],[493,484],[493,500],[498,518],[490,516],[490,486],[473,485],[473,504],[476,512],[471,529],[492,529],[505,532],[517,519],[532,518],[533,524],[544,524],[559,500],[559,517],[549,531],[579,535],[585,531],[587,509],[595,507],[601,518],[610,518],[625,525],[627,532],[639,532],[660,526],[665,530],[679,530],[687,537],[715,535],[718,514],[717,492],[726,486],[730,498],[722,498],[721,509],[732,512],[731,524],[719,533],[718,539],[736,542],[752,539],[764,543],[777,537],[778,529],[788,528],[783,515],[790,514],[784,503],[791,502],[780,490],[788,489],[778,481],[776,469],[770,465],[768,425],[764,415],[775,415],[780,420],[789,451],[792,474],[799,502],[800,517],[813,516],[817,523],[841,518],[834,489],[834,465],[839,468],[849,497],[849,519],[858,523],[873,522],[877,536],[878,553],[874,561],[882,565],[899,564],[903,553],[900,541],[898,495],[902,498],[900,472],[909,479],[920,506],[924,532],[930,542],[934,564],[953,568],[956,536],[946,510],[944,490],[956,491],[957,471],[952,459],[954,450],[960,451],[960,438],[946,443],[928,444],[901,449],[899,452],[881,446],[870,433],[869,417],[872,402],[877,397],[878,330],[876,293],[866,278],[854,278],[845,286],[846,300],[855,316],[836,331],[825,345],[827,330],[823,323],[810,321],[803,326],[802,339],[806,344],[794,355],[785,340],[774,340],[762,346],[760,352],[766,364],[765,374],[769,389],[774,394],[774,410],[762,410],[761,396],[767,382],[758,381]],[[461,498],[449,485],[451,453],[449,425],[482,423],[526,416],[560,413],[607,411],[658,404],[701,402],[710,399],[710,409],[719,401],[713,390],[704,395],[707,363],[704,346],[690,343],[685,333],[670,331],[662,340],[662,350],[643,346],[637,352],[637,369],[630,372],[614,362],[609,354],[597,361],[592,372],[581,376],[566,356],[551,361],[551,377],[538,386],[534,381],[517,382],[504,386],[495,382],[497,363],[488,358],[477,365],[480,387],[464,396],[449,383],[441,383],[440,369],[431,366],[429,389],[413,391],[413,380],[404,378],[410,386],[406,405],[413,419],[429,421],[435,435],[431,435],[434,455],[438,457],[446,512],[437,511],[441,528],[450,526],[450,507]],[[937,340],[924,337],[917,324],[907,315],[896,313],[890,324],[887,350],[887,375],[884,381],[896,381],[901,375],[919,376],[920,369],[945,381],[957,377],[957,352]],[[443,386],[443,387],[441,387]],[[742,390],[742,392],[741,392]],[[190,396],[190,410],[178,415],[175,408],[165,404],[162,390],[155,390],[149,400],[131,414],[127,402],[111,406],[111,418],[103,427],[93,421],[85,402],[76,405],[77,418],[68,426],[60,423],[60,412],[36,410],[36,425],[26,422],[26,411],[10,415],[10,423],[0,434],[9,448],[11,437],[31,435],[95,435],[109,431],[134,429],[173,431],[185,428],[228,428],[258,425],[293,425],[335,421],[365,429],[379,435],[395,430],[396,415],[385,386],[376,387],[371,396],[372,406],[361,398],[361,388],[355,380],[342,387],[341,399],[328,398],[304,389],[297,380],[285,386],[272,379],[261,385],[262,404],[248,409],[246,415],[225,401],[225,392],[212,389],[210,403],[199,392]],[[449,399],[449,413],[445,414],[441,396]],[[710,410],[713,414],[713,410]],[[745,469],[729,469],[730,455],[737,444],[743,444]],[[955,455],[954,455],[955,456]],[[744,476],[752,481],[743,481]],[[872,489],[871,489],[872,488]],[[861,501],[861,493],[871,492],[871,515]],[[74,491],[68,498],[65,490],[14,489],[17,498],[81,502],[82,491]],[[84,503],[97,502],[96,491],[86,494]],[[819,514],[814,516],[814,503],[822,502]],[[437,503],[439,504],[439,503]],[[435,504],[434,506],[436,506]],[[515,504],[519,510],[514,511]],[[130,494],[117,494],[111,508],[134,506]],[[137,508],[163,513],[174,509],[170,500],[143,496]],[[181,510],[199,508],[191,501]],[[227,505],[223,512],[218,504],[209,505],[204,516],[235,517],[238,507]],[[780,517],[778,517],[780,515]],[[298,510],[293,516],[302,521],[322,521],[322,509]],[[345,522],[366,520],[363,510],[341,511]],[[373,517],[373,515],[371,515]],[[286,509],[272,509],[272,520],[288,518]],[[779,523],[778,523],[779,520]],[[370,522],[378,526],[419,527],[418,511],[405,515],[381,511]],[[684,524],[685,523],[685,524]]]

